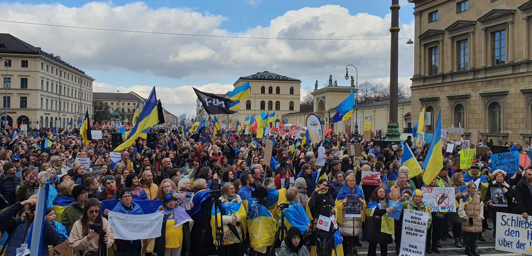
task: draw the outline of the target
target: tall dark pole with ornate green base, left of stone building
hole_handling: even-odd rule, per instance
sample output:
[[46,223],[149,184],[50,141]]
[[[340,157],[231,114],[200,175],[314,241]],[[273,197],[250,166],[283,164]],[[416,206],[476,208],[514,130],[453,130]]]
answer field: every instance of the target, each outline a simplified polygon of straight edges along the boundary
[[386,131],[386,141],[399,142],[401,133],[399,133],[399,123],[397,122],[397,72],[398,72],[398,55],[399,55],[399,0],[392,0],[392,26],[390,27],[390,108],[389,122]]

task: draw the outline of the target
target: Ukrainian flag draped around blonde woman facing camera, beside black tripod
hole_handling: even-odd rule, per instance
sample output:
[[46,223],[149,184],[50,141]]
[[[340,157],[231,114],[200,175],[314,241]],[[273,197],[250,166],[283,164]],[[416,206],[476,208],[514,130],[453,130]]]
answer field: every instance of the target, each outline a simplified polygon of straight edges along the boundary
[[[217,233],[217,226],[215,222],[216,219],[218,219],[218,227],[221,227],[222,225],[222,216],[220,214],[220,211],[224,211],[225,214],[223,216],[223,219],[227,219],[226,221],[223,221],[223,222],[230,223],[231,216],[233,215],[238,216],[240,218],[240,224],[242,224],[242,226],[240,226],[242,228],[242,233],[243,234],[246,233],[246,230],[247,230],[246,209],[244,207],[244,204],[242,203],[242,199],[240,199],[240,196],[238,195],[235,195],[235,196],[236,196],[236,201],[232,201],[228,203],[226,199],[226,201],[221,203],[222,209],[216,209],[216,212],[214,212],[215,205],[214,204],[212,205],[212,211],[211,211],[212,237],[216,237],[216,233]],[[235,234],[231,232],[231,236],[235,236]],[[244,237],[240,237],[240,242],[242,241],[244,241]],[[217,241],[215,243],[218,244]]]

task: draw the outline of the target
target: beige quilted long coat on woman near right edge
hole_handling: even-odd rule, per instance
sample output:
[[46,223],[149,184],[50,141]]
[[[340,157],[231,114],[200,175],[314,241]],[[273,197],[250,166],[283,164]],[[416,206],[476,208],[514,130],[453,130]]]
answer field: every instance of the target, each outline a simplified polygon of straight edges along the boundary
[[[460,200],[458,216],[462,219],[462,231],[470,233],[482,232],[482,220],[484,219],[484,202],[480,200],[480,195],[472,196],[473,200],[468,204]],[[470,225],[469,218],[473,218],[473,225]]]

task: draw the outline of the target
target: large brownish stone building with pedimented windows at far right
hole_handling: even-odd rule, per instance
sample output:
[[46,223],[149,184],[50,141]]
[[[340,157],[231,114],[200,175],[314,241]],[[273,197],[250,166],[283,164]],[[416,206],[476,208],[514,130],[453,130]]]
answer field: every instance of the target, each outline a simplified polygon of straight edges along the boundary
[[[412,120],[423,106],[433,130],[479,129],[495,145],[532,136],[532,0],[409,0],[414,3]],[[475,144],[474,142],[471,142]]]

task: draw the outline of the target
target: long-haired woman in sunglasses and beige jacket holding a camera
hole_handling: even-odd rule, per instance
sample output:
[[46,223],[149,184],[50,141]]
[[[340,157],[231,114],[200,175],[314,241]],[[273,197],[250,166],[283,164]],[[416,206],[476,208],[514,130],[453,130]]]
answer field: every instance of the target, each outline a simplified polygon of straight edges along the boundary
[[[68,244],[76,252],[76,255],[100,255],[99,235],[89,229],[90,224],[99,224],[105,230],[103,241],[106,249],[111,248],[114,242],[114,232],[109,222],[102,218],[101,208],[97,199],[89,199],[85,203],[83,215],[72,226],[72,232]],[[95,253],[94,253],[95,252]],[[139,254],[140,255],[140,254]]]

